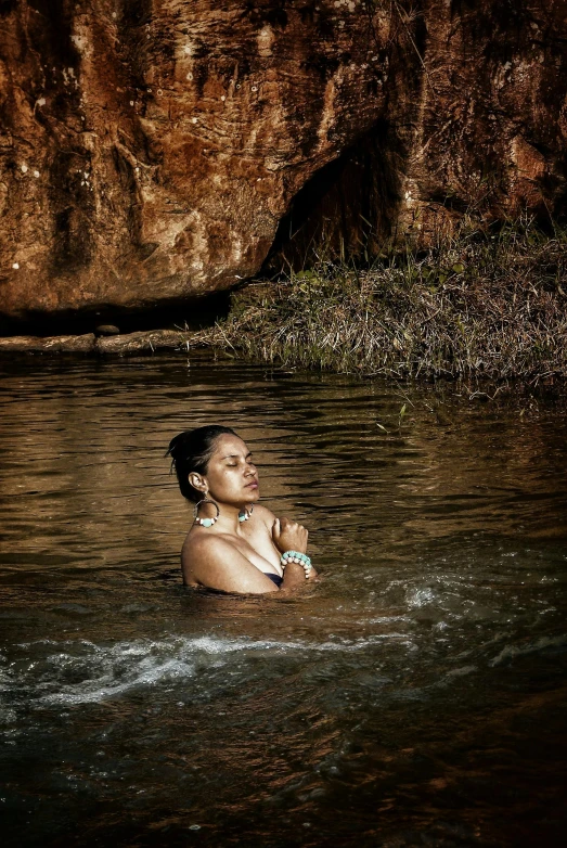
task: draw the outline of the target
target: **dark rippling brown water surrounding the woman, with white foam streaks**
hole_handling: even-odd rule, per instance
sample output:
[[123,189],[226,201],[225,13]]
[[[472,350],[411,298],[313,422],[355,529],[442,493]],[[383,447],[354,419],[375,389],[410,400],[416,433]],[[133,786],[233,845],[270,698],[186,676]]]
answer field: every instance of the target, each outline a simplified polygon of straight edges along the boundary
[[[564,844],[551,401],[182,358],[0,385],[4,845]],[[181,588],[163,454],[207,422],[309,526],[310,594]]]

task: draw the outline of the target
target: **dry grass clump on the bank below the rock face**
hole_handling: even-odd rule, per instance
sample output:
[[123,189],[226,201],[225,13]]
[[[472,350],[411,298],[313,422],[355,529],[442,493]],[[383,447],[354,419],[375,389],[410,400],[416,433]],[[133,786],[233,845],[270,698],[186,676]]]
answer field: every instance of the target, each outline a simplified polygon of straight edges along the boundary
[[567,375],[567,233],[532,220],[388,252],[363,269],[319,258],[233,293],[196,339],[255,361],[363,375]]

